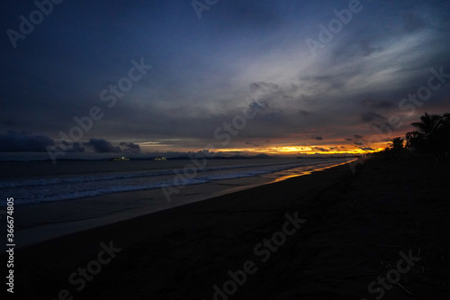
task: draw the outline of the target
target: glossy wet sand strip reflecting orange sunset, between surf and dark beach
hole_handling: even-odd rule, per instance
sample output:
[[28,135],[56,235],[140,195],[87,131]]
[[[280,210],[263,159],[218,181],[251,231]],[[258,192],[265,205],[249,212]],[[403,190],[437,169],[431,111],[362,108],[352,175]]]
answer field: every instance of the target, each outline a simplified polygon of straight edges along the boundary
[[[22,242],[17,245],[17,249],[70,233],[82,232],[182,205],[207,201],[220,195],[271,185],[291,177],[311,175],[316,171],[347,165],[352,161],[355,159],[302,172],[291,172],[291,169],[288,169],[257,177],[214,180],[205,184],[184,186],[181,193],[174,195],[170,203],[165,199],[161,188],[156,188],[60,202],[18,205],[15,207],[15,214],[20,217],[17,218],[16,228],[18,230],[15,235]],[[286,175],[286,173],[288,174]],[[130,199],[133,200],[129,201]],[[152,201],[151,205],[148,205],[148,200]]]

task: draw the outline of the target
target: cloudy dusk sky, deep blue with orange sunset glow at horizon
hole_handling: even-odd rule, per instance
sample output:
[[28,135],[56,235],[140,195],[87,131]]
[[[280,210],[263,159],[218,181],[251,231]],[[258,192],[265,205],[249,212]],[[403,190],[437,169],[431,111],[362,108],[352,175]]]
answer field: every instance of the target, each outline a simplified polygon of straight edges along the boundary
[[0,4],[0,159],[380,150],[450,112],[448,1]]

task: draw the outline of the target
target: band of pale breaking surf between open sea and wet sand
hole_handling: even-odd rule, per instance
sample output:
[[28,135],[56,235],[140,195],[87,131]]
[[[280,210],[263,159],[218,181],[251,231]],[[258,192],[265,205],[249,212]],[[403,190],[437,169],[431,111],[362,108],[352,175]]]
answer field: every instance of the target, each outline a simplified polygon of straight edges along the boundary
[[[293,168],[323,166],[329,161],[289,162],[247,166],[227,166],[198,169],[193,178],[184,177],[183,185],[197,185],[214,180],[255,177]],[[14,195],[16,205],[67,201],[119,192],[177,186],[176,174],[183,168],[144,172],[93,174],[77,177],[50,177],[3,182],[0,192]]]

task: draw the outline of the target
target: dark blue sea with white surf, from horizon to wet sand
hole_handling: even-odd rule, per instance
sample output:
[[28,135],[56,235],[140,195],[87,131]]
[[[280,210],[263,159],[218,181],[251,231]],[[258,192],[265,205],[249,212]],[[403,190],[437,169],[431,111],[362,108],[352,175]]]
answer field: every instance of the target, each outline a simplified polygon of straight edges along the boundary
[[[292,177],[347,159],[209,159],[192,168],[184,186],[245,177]],[[191,160],[0,162],[0,194],[14,196],[15,205],[62,202],[96,195],[180,185]],[[193,173],[194,172],[194,173]],[[2,206],[5,202],[2,202]]]

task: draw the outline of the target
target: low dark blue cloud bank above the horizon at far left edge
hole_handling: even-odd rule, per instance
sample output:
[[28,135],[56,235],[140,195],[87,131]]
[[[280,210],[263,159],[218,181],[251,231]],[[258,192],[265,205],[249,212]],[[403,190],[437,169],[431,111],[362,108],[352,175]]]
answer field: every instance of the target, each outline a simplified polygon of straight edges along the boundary
[[54,141],[44,135],[17,132],[0,134],[0,152],[46,152]]

